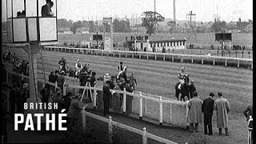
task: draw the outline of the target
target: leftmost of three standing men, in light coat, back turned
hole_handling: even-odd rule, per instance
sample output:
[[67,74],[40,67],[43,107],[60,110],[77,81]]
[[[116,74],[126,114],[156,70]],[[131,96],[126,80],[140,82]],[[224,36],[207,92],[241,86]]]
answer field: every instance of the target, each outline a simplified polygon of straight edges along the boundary
[[188,122],[190,123],[190,132],[198,132],[198,123],[202,122],[202,100],[198,98],[198,92],[194,92],[193,98],[187,104],[189,107]]

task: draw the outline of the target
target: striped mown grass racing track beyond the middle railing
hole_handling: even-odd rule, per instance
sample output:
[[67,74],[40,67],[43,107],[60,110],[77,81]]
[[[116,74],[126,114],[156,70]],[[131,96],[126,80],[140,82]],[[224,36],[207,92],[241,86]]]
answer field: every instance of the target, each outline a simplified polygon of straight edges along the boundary
[[[16,54],[22,59],[28,59],[27,55],[21,50],[17,50]],[[49,51],[43,52],[42,54],[45,69],[48,72],[58,69],[58,61],[62,57],[66,58],[67,64],[74,69],[74,63],[79,58],[82,65],[85,65],[85,63],[90,64],[90,68],[97,73],[96,77],[106,73],[115,74],[116,67],[119,62],[122,61],[125,66],[128,66],[128,75],[130,75],[131,71],[134,71],[134,76],[137,78],[138,82],[137,90],[162,95],[168,98],[175,98],[174,85],[178,82],[177,74],[180,68],[185,66],[187,74],[190,74],[190,78],[195,81],[195,86],[200,98],[207,98],[210,92],[217,94],[218,91],[222,91],[224,98],[227,98],[230,102],[231,111],[229,114],[229,125],[231,136],[225,138],[215,137],[217,139],[223,138],[223,142],[246,142],[246,120],[242,111],[246,108],[247,104],[252,103],[252,70],[181,62],[54,53]],[[213,127],[214,132],[218,133],[215,117],[216,115],[214,114]],[[203,126],[203,124],[201,124],[201,126]],[[201,127],[201,131],[202,130]]]

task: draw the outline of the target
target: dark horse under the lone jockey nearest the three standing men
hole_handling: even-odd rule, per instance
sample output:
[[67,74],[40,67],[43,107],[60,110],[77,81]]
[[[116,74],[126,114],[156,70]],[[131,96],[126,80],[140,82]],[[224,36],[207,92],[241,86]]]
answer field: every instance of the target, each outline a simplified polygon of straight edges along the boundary
[[[183,99],[183,101],[185,102],[185,97],[187,97],[188,99],[190,99],[190,78],[189,77],[185,77],[184,78],[184,82],[181,84],[180,82],[177,82],[175,85],[175,96],[178,99],[178,95],[182,94],[181,96],[181,101]],[[180,89],[179,89],[179,85]]]

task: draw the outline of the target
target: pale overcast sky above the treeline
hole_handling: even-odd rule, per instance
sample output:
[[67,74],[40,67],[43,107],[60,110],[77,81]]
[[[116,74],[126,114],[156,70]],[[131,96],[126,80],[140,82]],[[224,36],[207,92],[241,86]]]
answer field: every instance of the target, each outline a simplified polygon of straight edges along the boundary
[[[44,0],[40,0],[44,1]],[[156,0],[156,11],[165,18],[174,17],[174,0]],[[99,20],[104,17],[134,18],[147,10],[154,11],[154,0],[58,0],[58,18]],[[226,22],[238,18],[253,19],[253,0],[176,0],[176,18],[186,20],[192,10],[196,21],[213,21],[218,14]],[[2,0],[2,21],[6,20],[6,0]]]

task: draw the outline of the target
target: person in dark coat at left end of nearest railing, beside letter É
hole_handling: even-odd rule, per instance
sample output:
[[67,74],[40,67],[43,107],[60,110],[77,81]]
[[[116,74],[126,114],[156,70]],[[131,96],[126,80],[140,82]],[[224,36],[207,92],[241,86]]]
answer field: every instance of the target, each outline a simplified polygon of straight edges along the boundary
[[78,115],[80,114],[81,110],[82,110],[82,106],[80,104],[80,102],[78,101],[79,95],[76,94],[74,95],[74,98],[71,100],[70,102],[70,108],[67,112],[67,130],[69,130],[70,132],[72,132],[73,130],[75,130],[75,126],[78,124]]

